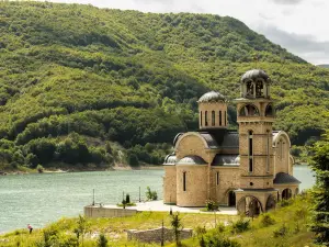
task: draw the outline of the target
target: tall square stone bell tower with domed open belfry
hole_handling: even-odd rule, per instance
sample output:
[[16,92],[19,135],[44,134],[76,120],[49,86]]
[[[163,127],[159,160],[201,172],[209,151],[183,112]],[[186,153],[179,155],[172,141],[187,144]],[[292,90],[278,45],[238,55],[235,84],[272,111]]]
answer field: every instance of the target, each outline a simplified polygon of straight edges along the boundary
[[[253,214],[265,212],[268,211],[266,200],[270,195],[276,194],[273,189],[272,148],[274,108],[270,87],[271,79],[263,70],[249,70],[241,77],[240,98],[235,100],[239,124],[241,173],[240,189],[236,191],[236,194],[237,207],[240,212],[251,210]],[[247,195],[250,194],[252,194],[251,199],[247,200]],[[242,204],[239,205],[239,203]]]

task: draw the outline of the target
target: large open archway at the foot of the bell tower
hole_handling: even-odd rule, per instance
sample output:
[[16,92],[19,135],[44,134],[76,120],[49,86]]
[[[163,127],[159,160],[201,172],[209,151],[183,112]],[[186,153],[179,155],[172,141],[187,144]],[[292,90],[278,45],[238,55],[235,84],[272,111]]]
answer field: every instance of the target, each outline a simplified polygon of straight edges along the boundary
[[251,195],[241,198],[237,207],[239,213],[245,213],[249,217],[257,216],[263,212],[261,202]]

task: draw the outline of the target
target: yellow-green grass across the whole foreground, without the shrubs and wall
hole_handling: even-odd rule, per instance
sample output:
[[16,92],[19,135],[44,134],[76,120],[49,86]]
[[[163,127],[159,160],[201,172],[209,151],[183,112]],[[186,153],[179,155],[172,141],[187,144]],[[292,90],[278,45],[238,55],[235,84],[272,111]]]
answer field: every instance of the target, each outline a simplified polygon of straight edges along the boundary
[[[262,216],[256,218],[251,223],[251,229],[240,233],[231,234],[230,226],[225,228],[225,232],[219,236],[229,237],[241,244],[241,246],[260,246],[260,247],[304,247],[304,246],[315,246],[311,242],[314,236],[307,229],[307,225],[310,220],[309,215],[309,198],[299,197],[297,200],[293,201],[293,204],[284,207],[276,209],[275,212],[269,213],[269,215],[275,220],[273,225],[264,227],[262,225]],[[214,227],[214,215],[213,214],[181,214],[181,221],[184,227],[191,227],[195,229],[196,227],[206,227],[208,232],[218,235],[216,228]],[[90,220],[90,232],[91,233],[105,233],[112,246],[138,246],[138,243],[126,242],[125,229],[147,229],[152,227],[158,227],[161,225],[161,221],[164,221],[164,225],[170,227],[170,217],[168,213],[157,213],[157,212],[144,212],[135,216],[125,218],[99,218]],[[236,221],[237,216],[226,216],[217,215],[217,224],[223,222]],[[77,218],[63,218],[45,229],[57,229],[58,236],[65,239],[65,236],[71,235],[73,228],[77,226]],[[287,227],[287,234],[281,237],[274,237],[273,232],[277,231],[280,227],[285,225]],[[89,234],[86,237],[86,247],[95,246],[95,239],[91,239]],[[198,246],[200,236],[194,236],[191,239],[183,240],[183,244],[189,247]],[[32,235],[27,234],[26,229],[16,231],[0,236],[0,239],[8,239],[7,244],[3,246],[16,246],[18,242],[21,243],[21,247],[33,246],[36,242],[42,240],[42,231],[36,229]],[[5,243],[5,242],[3,242]],[[174,246],[170,243],[168,246]],[[157,246],[157,245],[145,245],[145,246]]]

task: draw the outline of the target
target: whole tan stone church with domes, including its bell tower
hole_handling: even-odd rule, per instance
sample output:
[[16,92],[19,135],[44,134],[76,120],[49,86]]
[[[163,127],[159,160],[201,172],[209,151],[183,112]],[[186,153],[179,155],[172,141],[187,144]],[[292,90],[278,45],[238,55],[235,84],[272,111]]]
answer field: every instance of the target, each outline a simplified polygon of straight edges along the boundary
[[164,203],[204,206],[213,200],[254,215],[298,193],[290,137],[272,128],[270,88],[263,70],[241,77],[240,98],[235,100],[238,132],[228,130],[229,102],[224,96],[211,91],[198,99],[200,130],[179,133],[174,153],[164,159]]

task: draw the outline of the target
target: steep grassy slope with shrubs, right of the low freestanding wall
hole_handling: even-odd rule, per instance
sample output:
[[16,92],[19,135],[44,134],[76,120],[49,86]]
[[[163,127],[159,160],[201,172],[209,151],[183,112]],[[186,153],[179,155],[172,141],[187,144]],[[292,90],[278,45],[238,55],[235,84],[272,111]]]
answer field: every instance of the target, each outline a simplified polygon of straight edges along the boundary
[[[275,211],[265,213],[250,220],[250,227],[243,226],[243,231],[237,233],[237,223],[220,226],[220,231],[211,229],[206,234],[194,236],[183,240],[184,246],[200,246],[201,236],[219,236],[239,243],[242,247],[311,247],[314,233],[309,232],[310,223],[310,195],[304,194],[291,200],[290,203],[277,205]],[[246,221],[246,218],[242,218]],[[242,221],[241,220],[241,221]],[[241,225],[241,224],[240,224]],[[240,227],[240,226],[239,226]],[[238,227],[238,228],[239,228]],[[222,233],[220,233],[222,232]],[[174,245],[171,245],[174,246]]]

